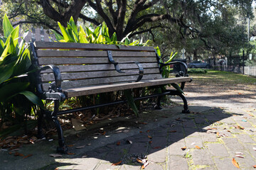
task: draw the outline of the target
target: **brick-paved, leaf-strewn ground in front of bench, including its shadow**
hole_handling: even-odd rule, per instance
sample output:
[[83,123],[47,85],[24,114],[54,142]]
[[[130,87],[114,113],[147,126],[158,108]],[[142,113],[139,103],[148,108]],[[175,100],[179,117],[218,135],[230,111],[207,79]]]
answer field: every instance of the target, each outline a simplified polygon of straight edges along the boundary
[[181,114],[177,106],[108,120],[92,132],[67,130],[70,154],[50,157],[56,142],[37,142],[21,148],[23,154],[33,154],[26,159],[0,152],[0,169],[139,170],[137,158],[143,157],[149,163],[145,169],[151,170],[232,170],[238,169],[235,162],[239,169],[254,169],[255,90],[192,82],[185,92],[190,114]]

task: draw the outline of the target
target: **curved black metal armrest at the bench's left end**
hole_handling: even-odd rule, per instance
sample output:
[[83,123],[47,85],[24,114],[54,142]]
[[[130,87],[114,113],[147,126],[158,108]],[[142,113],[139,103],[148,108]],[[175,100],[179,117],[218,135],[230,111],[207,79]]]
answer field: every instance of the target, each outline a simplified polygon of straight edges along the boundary
[[53,92],[61,92],[61,74],[60,74],[60,69],[55,66],[55,65],[46,65],[43,66],[39,69],[39,72],[46,70],[46,69],[51,69],[54,75],[54,79],[55,81],[53,83],[50,84],[49,87],[49,92],[53,91]]

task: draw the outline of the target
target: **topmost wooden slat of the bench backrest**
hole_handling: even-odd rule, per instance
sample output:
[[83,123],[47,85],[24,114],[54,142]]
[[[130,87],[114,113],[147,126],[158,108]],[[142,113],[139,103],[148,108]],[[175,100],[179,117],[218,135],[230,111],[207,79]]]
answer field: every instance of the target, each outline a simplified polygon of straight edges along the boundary
[[129,45],[102,45],[102,44],[83,44],[73,42],[43,42],[34,43],[36,49],[67,49],[67,50],[116,50],[116,51],[151,51],[154,47],[129,46]]

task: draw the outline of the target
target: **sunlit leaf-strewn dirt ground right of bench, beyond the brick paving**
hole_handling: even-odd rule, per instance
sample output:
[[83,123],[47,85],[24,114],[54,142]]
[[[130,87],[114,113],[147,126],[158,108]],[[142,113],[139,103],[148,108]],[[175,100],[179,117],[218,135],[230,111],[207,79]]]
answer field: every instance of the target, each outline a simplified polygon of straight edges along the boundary
[[256,84],[253,82],[235,84],[225,77],[209,78],[203,74],[191,74],[191,77],[193,81],[188,82],[184,89],[189,105],[230,108],[230,103],[233,103],[238,108],[255,107]]

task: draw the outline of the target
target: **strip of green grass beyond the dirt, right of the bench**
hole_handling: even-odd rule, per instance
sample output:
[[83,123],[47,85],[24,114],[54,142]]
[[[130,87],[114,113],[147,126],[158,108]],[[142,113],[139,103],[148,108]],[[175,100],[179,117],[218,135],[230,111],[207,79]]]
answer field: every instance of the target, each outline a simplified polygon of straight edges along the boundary
[[190,74],[190,77],[193,77],[198,83],[207,84],[211,82],[218,85],[235,85],[235,84],[245,84],[245,85],[255,85],[256,79],[243,74],[236,74],[233,72],[223,72],[208,69],[206,74]]

